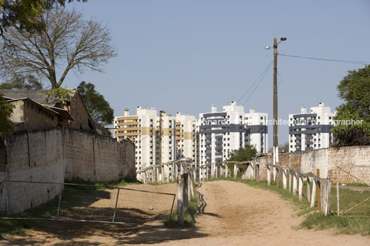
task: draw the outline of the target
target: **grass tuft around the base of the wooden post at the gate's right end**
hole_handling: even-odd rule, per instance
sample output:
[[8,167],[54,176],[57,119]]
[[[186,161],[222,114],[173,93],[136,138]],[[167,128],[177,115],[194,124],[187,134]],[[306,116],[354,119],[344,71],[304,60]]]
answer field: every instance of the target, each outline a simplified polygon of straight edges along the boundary
[[188,212],[184,216],[184,225],[179,225],[177,217],[177,209],[172,213],[169,221],[165,223],[168,227],[179,228],[179,227],[193,227],[195,224],[195,214],[197,214],[198,198],[194,196],[191,201],[188,202]]

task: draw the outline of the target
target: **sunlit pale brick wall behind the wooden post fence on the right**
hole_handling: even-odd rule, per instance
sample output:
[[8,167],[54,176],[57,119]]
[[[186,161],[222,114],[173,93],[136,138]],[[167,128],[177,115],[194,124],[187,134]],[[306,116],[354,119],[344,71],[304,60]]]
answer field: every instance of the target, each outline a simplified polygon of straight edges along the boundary
[[[273,163],[272,156],[257,158],[259,163]],[[320,170],[320,176],[326,178],[329,172],[335,171],[336,165],[370,165],[370,146],[352,146],[340,148],[327,148],[309,150],[305,152],[293,152],[279,155],[281,167],[291,167],[300,172],[313,172]],[[266,179],[266,167],[261,167],[261,178]],[[370,182],[370,167],[342,167],[344,171],[357,176],[362,181]],[[342,183],[359,182],[349,174],[340,171]]]

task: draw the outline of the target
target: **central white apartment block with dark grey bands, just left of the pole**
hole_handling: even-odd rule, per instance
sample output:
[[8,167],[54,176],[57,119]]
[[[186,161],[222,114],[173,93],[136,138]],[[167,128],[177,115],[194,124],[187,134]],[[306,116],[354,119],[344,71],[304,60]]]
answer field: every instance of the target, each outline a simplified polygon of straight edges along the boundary
[[254,145],[257,152],[267,151],[267,114],[256,113],[251,108],[244,112],[243,105],[235,101],[217,112],[199,114],[199,161],[200,165],[226,161],[232,150]]

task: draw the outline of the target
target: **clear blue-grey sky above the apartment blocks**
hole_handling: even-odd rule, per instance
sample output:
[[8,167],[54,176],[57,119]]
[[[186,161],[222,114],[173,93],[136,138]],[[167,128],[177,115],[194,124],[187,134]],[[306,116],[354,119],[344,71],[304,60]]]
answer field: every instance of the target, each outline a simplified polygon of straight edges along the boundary
[[[370,1],[88,0],[68,3],[86,19],[111,28],[118,56],[104,73],[70,72],[63,87],[95,84],[115,116],[137,105],[168,114],[211,112],[231,101],[255,107],[273,119],[273,69],[258,80],[278,52],[302,57],[370,61]],[[364,65],[279,56],[278,116],[299,113],[323,101],[334,111],[342,101],[336,86]],[[244,97],[241,96],[253,86]],[[253,93],[252,93],[253,92]],[[247,100],[248,99],[248,100]],[[288,140],[280,125],[279,143]],[[269,146],[273,127],[269,126]]]

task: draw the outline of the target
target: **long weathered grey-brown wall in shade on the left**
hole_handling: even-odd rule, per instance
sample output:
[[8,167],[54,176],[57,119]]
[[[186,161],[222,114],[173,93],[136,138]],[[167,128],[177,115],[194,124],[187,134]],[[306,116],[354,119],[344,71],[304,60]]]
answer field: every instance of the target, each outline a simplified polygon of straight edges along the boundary
[[[65,178],[113,181],[135,178],[135,146],[108,136],[70,128],[19,132],[7,139],[6,172],[0,181],[64,183]],[[1,156],[0,156],[1,157]],[[46,203],[61,192],[60,185],[6,182],[10,212]],[[0,201],[3,203],[3,198]]]

